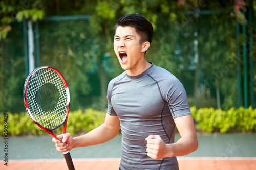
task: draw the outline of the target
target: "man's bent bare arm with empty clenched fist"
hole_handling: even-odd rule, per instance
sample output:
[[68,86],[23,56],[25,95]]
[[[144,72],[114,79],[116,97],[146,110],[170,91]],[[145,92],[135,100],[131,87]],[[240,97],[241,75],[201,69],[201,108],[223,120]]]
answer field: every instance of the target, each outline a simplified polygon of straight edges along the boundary
[[160,136],[150,135],[147,140],[147,155],[153,159],[183,156],[194,152],[198,148],[197,133],[191,115],[174,119],[181,138],[172,144],[165,144]]

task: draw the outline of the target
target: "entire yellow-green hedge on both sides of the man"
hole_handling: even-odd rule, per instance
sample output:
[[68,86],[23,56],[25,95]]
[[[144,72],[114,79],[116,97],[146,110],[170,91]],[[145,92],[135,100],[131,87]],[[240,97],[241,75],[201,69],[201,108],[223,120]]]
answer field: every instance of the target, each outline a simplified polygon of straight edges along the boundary
[[[255,132],[256,109],[231,108],[228,111],[214,108],[191,107],[191,113],[198,130],[203,132],[227,133],[230,131]],[[106,112],[93,109],[77,110],[69,113],[67,132],[71,134],[86,133],[100,126],[105,119]],[[38,128],[27,113],[8,113],[8,135],[43,135],[45,131]],[[4,135],[4,114],[0,114],[0,131]],[[62,133],[62,127],[54,132]]]

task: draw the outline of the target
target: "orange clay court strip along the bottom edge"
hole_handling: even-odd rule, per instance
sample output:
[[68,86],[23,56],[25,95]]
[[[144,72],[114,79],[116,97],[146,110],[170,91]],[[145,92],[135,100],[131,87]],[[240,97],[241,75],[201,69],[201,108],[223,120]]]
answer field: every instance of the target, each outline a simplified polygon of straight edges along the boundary
[[[249,158],[186,158],[178,159],[180,170],[254,170],[256,169],[256,159]],[[74,159],[76,169],[88,170],[114,170],[119,169],[120,160],[118,159],[99,159],[99,160],[77,160]],[[1,165],[1,169],[33,169],[51,170],[68,169],[63,160],[22,160],[10,161],[8,167]]]

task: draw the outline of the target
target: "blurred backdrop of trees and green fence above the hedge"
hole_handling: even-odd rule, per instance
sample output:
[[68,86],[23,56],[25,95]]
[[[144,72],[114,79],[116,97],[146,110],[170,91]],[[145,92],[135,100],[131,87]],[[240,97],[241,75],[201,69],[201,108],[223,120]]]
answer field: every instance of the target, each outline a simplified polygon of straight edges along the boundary
[[121,69],[113,50],[118,18],[153,23],[147,61],[172,72],[190,106],[255,106],[255,1],[1,1],[0,112],[24,112],[23,86],[36,67],[66,78],[71,111],[107,108]]

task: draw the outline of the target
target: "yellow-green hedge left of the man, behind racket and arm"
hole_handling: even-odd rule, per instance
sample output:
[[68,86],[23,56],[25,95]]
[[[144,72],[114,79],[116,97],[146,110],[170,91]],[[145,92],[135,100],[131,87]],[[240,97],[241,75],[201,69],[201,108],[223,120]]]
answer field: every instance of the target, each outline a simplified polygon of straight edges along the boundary
[[[93,110],[77,110],[69,113],[67,132],[71,134],[86,133],[100,126],[105,120],[106,112]],[[0,132],[4,136],[4,114],[0,114]],[[36,126],[26,112],[9,113],[8,112],[8,135],[43,135],[47,134]],[[54,134],[61,134],[62,127],[56,129]]]

